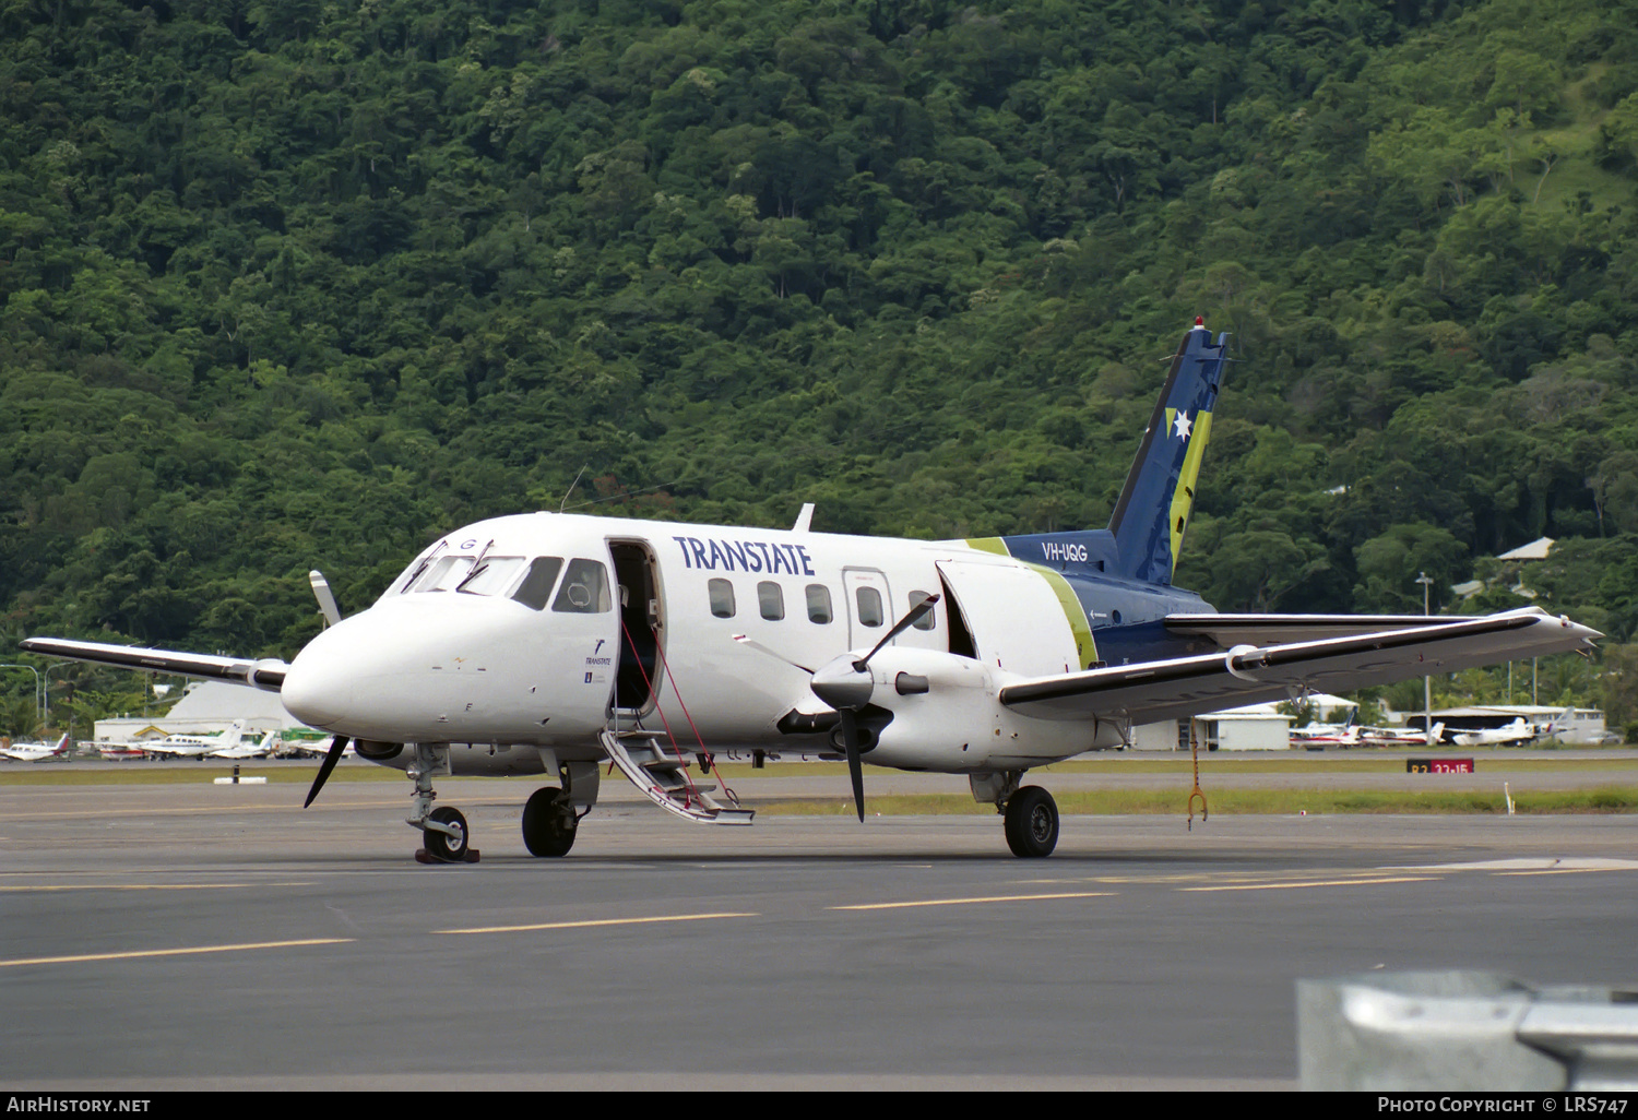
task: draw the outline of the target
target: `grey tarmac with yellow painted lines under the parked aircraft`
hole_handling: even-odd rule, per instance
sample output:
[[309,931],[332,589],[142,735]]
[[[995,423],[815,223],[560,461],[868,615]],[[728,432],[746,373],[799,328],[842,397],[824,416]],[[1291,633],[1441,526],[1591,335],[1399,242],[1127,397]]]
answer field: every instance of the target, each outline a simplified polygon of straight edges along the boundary
[[609,781],[536,860],[531,784],[468,779],[482,861],[423,866],[408,783],[164,765],[0,771],[0,1087],[1292,1089],[1302,978],[1638,982],[1633,815],[1066,815],[1025,861],[989,815],[701,827]]

